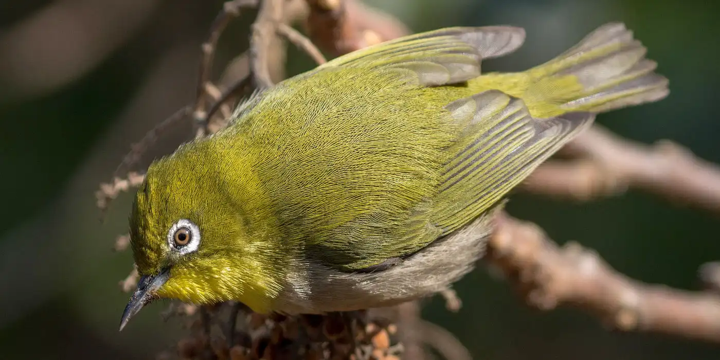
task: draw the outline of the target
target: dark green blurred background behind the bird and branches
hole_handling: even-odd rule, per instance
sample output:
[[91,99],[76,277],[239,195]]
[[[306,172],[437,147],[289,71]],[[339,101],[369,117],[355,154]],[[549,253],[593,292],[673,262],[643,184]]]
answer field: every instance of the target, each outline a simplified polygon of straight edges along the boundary
[[[517,53],[484,70],[521,70],[610,21],[626,22],[670,78],[670,97],[603,114],[627,138],[668,138],[720,163],[719,1],[373,0],[414,31],[453,25],[525,27]],[[94,192],[130,143],[192,102],[199,44],[222,1],[0,1],[0,358],[152,359],[179,338],[161,304],[117,332],[132,267],[114,253],[127,232],[130,196],[99,220]],[[245,50],[248,12],[222,38],[217,69]],[[310,69],[289,47],[287,73]],[[179,125],[171,144],[189,134]],[[513,196],[509,211],[554,240],[595,248],[646,282],[697,289],[700,264],[720,258],[720,221],[647,194],[588,204]],[[429,320],[449,328],[475,359],[720,359],[720,348],[661,336],[606,331],[575,310],[528,309],[507,284],[478,269],[456,285],[461,312],[433,300]]]

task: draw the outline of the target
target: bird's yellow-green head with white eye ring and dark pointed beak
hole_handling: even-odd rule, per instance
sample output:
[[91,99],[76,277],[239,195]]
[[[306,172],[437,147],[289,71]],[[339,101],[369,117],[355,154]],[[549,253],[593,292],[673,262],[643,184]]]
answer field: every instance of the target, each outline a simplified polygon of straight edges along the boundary
[[197,150],[179,150],[148,168],[130,213],[140,281],[120,330],[161,298],[199,305],[240,300],[265,311],[264,298],[277,287],[266,244],[251,230],[242,197],[205,165],[211,161]]

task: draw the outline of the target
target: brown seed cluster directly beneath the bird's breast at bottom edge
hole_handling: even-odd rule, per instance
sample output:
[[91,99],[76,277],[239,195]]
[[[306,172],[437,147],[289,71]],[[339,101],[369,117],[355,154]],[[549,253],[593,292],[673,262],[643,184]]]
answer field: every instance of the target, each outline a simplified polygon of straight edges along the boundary
[[221,304],[200,311],[181,305],[166,314],[189,316],[190,334],[158,359],[397,360],[403,350],[397,325],[366,310],[288,317]]

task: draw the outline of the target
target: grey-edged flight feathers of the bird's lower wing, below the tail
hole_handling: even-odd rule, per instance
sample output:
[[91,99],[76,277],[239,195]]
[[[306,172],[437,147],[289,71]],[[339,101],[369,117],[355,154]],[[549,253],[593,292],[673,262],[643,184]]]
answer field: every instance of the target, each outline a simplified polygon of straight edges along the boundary
[[531,117],[521,99],[498,90],[459,99],[446,106],[464,128],[448,151],[431,222],[443,235],[490,209],[577,132],[595,114],[574,112]]

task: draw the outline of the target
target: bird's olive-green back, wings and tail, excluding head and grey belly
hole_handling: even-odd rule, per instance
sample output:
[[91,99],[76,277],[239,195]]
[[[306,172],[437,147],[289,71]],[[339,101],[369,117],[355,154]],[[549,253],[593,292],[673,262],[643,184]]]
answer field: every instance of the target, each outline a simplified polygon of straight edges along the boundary
[[351,53],[253,97],[215,141],[261,181],[279,241],[364,269],[472,221],[587,127],[667,94],[620,24],[524,73],[480,75],[513,27],[451,28]]

